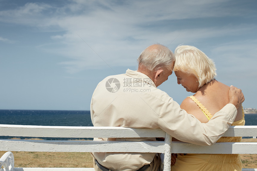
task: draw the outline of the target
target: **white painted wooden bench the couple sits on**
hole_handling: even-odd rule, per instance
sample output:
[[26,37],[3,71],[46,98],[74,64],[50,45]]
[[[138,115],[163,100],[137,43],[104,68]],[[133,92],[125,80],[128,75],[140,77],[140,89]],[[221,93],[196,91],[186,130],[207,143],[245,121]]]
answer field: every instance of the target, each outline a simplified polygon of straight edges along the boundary
[[[231,126],[224,136],[254,137],[257,126]],[[223,142],[212,146],[200,146],[184,142],[172,142],[171,136],[161,129],[131,129],[124,127],[64,127],[0,124],[0,136],[55,137],[55,138],[139,138],[164,137],[165,141],[50,141],[0,139],[0,151],[26,152],[154,152],[164,153],[163,170],[170,171],[171,153],[206,154],[257,154],[255,142]],[[94,171],[94,168],[18,168],[14,167],[11,152],[0,159],[1,171]],[[242,169],[253,171],[257,169]]]

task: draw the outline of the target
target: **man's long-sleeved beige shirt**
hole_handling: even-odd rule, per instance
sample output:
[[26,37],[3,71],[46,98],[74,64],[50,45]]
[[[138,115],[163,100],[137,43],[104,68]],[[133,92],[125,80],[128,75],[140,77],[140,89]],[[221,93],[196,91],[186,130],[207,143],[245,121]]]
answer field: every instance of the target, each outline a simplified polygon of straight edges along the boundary
[[[175,91],[175,90],[174,90]],[[214,144],[230,127],[237,110],[227,104],[208,123],[180,109],[167,93],[156,88],[145,74],[127,70],[101,81],[91,99],[94,126],[161,128],[180,141],[200,145]],[[151,141],[153,138],[94,138],[94,140]],[[154,153],[92,152],[94,158],[112,170],[136,170],[149,164]]]

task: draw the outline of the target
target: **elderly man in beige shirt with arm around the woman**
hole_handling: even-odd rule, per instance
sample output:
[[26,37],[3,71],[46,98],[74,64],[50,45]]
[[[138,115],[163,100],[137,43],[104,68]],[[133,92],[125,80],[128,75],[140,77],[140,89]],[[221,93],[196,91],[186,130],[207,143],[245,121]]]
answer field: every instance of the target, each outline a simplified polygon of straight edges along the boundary
[[[161,128],[180,141],[211,145],[230,127],[237,107],[244,101],[240,89],[230,88],[229,104],[206,124],[187,114],[169,95],[157,87],[172,74],[175,56],[169,48],[154,44],[139,56],[138,70],[108,76],[92,96],[94,126]],[[151,141],[152,138],[95,138],[94,140]],[[95,170],[155,171],[160,157],[154,153],[92,152]]]

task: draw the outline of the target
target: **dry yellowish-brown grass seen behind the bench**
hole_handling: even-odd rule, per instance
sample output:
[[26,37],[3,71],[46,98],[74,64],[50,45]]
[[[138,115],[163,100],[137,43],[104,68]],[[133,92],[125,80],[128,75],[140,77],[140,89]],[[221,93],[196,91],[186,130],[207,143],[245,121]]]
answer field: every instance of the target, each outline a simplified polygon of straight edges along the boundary
[[[243,139],[242,142],[257,142]],[[2,156],[5,151],[0,151]],[[15,167],[93,167],[89,152],[13,152]],[[243,168],[257,168],[257,154],[242,154]]]

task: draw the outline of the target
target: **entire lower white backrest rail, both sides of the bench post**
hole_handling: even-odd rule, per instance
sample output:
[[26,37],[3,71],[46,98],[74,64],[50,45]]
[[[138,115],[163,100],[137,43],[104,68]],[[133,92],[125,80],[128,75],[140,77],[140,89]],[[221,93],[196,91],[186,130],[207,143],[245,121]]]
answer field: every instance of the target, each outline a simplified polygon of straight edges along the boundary
[[[164,153],[164,141],[45,141],[0,140],[1,151],[30,152],[159,152]],[[201,146],[184,142],[172,142],[172,153],[205,154],[257,154],[257,143],[221,142]]]

